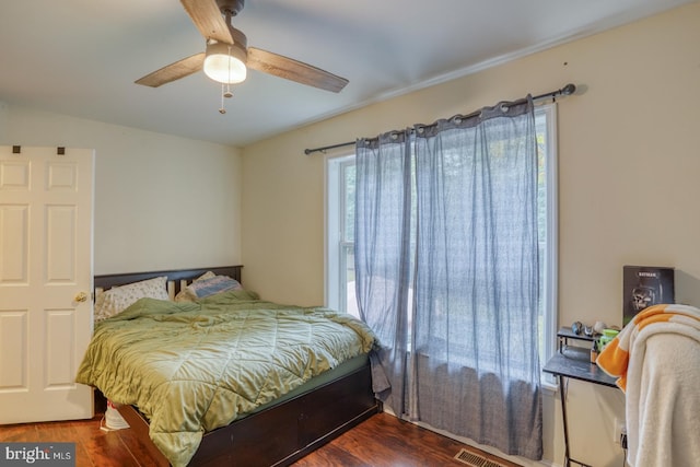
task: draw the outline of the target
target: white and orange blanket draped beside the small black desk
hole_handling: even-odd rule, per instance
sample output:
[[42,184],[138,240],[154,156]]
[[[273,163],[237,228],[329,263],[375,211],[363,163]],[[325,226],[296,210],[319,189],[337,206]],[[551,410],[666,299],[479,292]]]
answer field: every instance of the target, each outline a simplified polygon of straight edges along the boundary
[[600,352],[626,392],[628,463],[690,466],[700,459],[700,310],[654,305]]

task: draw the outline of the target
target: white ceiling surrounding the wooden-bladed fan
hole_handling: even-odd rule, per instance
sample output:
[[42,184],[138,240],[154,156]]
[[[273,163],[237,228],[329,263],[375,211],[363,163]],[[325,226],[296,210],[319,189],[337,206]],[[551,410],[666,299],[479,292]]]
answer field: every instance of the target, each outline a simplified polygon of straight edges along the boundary
[[243,147],[692,1],[248,0],[233,20],[248,46],[350,83],[335,94],[249,71],[221,115],[201,72],[133,83],[203,51],[178,0],[0,0],[0,101]]

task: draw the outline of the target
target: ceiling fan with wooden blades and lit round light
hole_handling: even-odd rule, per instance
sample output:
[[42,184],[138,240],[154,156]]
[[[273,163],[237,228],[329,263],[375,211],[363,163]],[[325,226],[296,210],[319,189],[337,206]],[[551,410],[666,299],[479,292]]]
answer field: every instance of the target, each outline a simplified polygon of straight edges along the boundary
[[165,66],[136,81],[151,87],[188,77],[199,70],[222,84],[240,83],[246,68],[331,92],[348,80],[289,57],[247,46],[245,34],[231,25],[244,0],[180,0],[195,26],[207,39],[207,51]]

